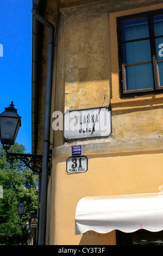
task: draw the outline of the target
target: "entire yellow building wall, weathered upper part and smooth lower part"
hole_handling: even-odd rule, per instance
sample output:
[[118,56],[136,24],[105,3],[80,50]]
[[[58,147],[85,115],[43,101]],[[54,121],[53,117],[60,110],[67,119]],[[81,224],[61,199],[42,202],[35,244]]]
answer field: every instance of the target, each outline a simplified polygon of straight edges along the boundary
[[[63,131],[51,130],[54,149],[48,181],[49,245],[115,245],[115,231],[75,235],[78,201],[86,196],[160,192],[163,183],[163,95],[120,99],[116,34],[117,16],[163,5],[145,0],[139,4],[127,2],[101,1],[60,10],[52,112],[111,106],[112,133],[108,138],[67,142]],[[151,6],[146,6],[149,3]],[[82,145],[82,155],[88,158],[86,173],[66,173],[72,145]]]

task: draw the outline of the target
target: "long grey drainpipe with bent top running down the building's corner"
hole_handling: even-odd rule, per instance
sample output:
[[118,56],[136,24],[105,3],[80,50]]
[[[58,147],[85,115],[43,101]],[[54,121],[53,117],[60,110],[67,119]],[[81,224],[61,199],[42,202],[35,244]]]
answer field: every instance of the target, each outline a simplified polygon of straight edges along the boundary
[[54,46],[54,26],[44,19],[37,11],[38,5],[33,4],[32,13],[35,19],[49,28],[48,36],[48,59],[47,59],[47,80],[45,99],[45,120],[43,133],[43,154],[42,154],[42,174],[41,174],[41,205],[39,220],[39,245],[45,245],[46,237],[46,214],[47,214],[47,184],[48,184],[48,163],[49,163],[49,137],[51,125],[51,92],[52,92],[52,71],[53,71],[53,46]]

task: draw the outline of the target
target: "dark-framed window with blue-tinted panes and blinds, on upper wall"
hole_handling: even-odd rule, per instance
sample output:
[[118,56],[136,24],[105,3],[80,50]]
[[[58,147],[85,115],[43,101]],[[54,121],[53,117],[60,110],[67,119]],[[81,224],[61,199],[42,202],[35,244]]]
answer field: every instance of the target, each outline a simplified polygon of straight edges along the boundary
[[117,18],[121,96],[163,92],[163,10]]

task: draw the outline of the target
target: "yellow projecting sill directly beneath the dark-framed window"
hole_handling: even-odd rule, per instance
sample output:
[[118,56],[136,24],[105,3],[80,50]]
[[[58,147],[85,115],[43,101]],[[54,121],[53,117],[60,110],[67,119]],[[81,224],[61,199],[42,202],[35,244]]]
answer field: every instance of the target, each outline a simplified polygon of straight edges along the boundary
[[133,99],[111,99],[112,111],[130,108],[144,108],[163,106],[163,94],[148,95],[148,96],[135,96]]

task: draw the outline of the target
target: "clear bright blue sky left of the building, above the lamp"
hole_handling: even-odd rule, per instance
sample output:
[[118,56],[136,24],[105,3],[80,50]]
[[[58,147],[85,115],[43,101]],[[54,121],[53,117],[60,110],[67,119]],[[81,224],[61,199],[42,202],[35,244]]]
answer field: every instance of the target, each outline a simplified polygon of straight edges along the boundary
[[1,0],[0,113],[14,102],[21,118],[16,142],[31,153],[32,0]]

